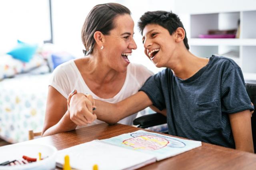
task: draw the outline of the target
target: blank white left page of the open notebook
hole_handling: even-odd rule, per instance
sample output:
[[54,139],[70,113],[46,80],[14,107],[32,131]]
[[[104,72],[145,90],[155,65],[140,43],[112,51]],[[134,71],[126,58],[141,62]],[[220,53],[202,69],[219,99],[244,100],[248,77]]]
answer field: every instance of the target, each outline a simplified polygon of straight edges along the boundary
[[72,168],[81,170],[90,170],[94,164],[99,170],[130,170],[156,162],[152,155],[97,140],[59,150],[56,162],[64,164],[65,155],[69,155]]

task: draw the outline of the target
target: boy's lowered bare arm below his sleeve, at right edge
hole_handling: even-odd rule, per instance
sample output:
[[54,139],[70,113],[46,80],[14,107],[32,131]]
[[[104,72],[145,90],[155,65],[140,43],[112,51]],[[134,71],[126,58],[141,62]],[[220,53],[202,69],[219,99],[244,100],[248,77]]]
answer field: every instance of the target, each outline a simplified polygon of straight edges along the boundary
[[229,119],[236,149],[254,153],[250,111],[229,114]]

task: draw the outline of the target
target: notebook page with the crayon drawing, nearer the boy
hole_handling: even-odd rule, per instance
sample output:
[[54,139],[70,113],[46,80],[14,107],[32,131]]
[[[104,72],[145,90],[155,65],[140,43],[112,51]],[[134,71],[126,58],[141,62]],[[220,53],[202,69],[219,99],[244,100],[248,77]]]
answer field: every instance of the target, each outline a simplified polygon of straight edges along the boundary
[[144,130],[121,134],[101,141],[136,152],[154,155],[158,161],[202,145],[200,141],[186,140]]

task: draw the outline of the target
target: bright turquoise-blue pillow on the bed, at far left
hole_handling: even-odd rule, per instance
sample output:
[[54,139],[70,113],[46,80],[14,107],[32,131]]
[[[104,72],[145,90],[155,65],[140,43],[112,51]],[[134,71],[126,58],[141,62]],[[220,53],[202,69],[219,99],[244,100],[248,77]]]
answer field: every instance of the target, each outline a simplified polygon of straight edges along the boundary
[[24,62],[29,62],[36,53],[37,45],[31,45],[18,40],[18,44],[7,54]]

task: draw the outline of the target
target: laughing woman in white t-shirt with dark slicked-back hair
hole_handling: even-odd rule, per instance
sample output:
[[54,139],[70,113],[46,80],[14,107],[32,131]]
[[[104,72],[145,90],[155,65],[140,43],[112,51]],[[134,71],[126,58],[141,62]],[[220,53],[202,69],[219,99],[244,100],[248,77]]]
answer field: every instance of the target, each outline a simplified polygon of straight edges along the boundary
[[[101,123],[94,121],[94,114],[70,115],[66,101],[73,89],[90,93],[94,99],[117,103],[135,94],[153,74],[128,59],[132,49],[137,48],[133,29],[130,10],[125,6],[107,3],[92,8],[82,27],[87,57],[66,62],[52,73],[42,136]],[[119,123],[132,125],[135,117],[136,114],[131,115]]]

